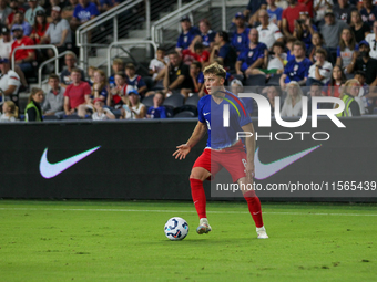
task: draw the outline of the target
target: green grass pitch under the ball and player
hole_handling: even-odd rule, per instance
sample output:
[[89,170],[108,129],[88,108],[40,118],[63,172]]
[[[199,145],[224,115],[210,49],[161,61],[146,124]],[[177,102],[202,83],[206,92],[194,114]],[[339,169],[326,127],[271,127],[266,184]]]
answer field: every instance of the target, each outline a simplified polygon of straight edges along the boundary
[[[0,281],[377,281],[377,206],[210,202],[198,236],[191,202],[0,201]],[[190,226],[170,241],[171,217]]]

